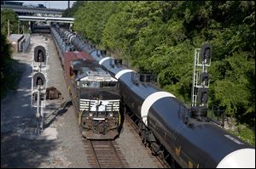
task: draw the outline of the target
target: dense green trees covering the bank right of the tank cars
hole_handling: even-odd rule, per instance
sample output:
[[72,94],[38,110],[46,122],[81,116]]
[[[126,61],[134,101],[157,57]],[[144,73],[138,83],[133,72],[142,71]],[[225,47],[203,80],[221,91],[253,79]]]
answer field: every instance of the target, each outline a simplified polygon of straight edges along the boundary
[[75,31],[137,70],[156,73],[159,86],[190,102],[195,48],[212,44],[210,102],[250,123],[255,114],[255,2],[87,2]]

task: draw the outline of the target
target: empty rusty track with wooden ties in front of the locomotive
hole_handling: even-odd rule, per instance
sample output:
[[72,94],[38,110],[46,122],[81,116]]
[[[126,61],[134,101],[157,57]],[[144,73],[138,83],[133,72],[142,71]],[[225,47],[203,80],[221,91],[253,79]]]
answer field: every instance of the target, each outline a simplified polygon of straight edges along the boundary
[[88,162],[93,168],[127,168],[124,155],[112,140],[84,140]]

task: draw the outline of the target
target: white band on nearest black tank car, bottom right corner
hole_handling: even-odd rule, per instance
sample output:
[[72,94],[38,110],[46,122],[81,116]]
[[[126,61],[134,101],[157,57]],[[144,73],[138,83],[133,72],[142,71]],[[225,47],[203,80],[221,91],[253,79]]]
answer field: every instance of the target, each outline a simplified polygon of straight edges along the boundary
[[255,149],[233,151],[218,163],[217,168],[255,168]]

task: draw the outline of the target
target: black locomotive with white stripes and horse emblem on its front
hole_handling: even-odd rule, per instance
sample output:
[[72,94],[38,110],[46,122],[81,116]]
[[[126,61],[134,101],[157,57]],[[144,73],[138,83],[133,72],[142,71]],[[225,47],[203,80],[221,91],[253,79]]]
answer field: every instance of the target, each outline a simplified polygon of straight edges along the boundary
[[89,60],[79,64],[82,66],[74,74],[83,136],[87,139],[116,138],[120,125],[119,82]]

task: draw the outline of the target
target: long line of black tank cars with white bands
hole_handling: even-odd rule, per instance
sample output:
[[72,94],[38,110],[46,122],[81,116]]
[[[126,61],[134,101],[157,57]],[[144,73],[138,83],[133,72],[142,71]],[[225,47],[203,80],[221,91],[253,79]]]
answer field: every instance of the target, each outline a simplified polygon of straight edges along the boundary
[[172,166],[255,168],[253,146],[207,121],[207,117],[202,118],[200,113],[191,115],[191,108],[172,93],[155,87],[148,81],[148,75],[127,69],[120,60],[107,56],[70,31],[59,31],[76,50],[90,54],[119,80],[124,109],[137,116],[140,135],[154,154],[166,159],[171,156],[175,161]]

